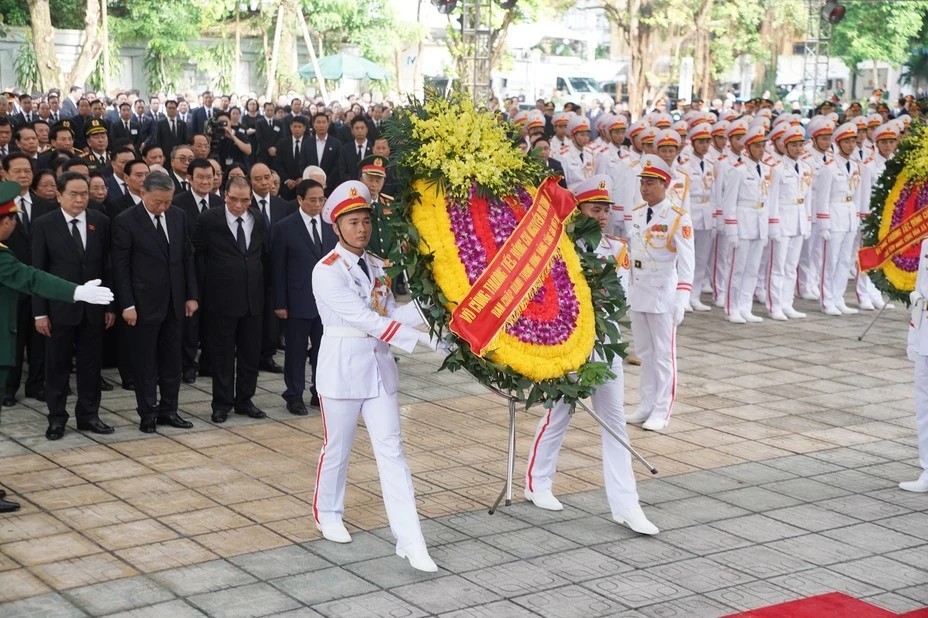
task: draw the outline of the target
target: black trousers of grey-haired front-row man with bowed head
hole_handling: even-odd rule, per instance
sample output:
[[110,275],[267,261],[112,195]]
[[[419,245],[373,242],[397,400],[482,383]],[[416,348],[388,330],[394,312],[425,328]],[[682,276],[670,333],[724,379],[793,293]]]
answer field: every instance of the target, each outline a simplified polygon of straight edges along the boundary
[[[132,345],[135,401],[143,419],[177,412],[180,392],[181,319],[170,311],[156,324],[127,326]],[[158,394],[161,404],[158,404]]]

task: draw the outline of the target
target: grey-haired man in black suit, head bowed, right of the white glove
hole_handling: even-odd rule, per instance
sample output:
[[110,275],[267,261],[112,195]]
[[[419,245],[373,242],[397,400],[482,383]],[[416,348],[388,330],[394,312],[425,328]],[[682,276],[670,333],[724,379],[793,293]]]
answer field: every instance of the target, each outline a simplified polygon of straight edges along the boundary
[[183,319],[196,312],[199,294],[187,217],[170,208],[173,196],[171,179],[150,172],[142,203],[113,221],[113,280],[129,326],[143,433],[154,433],[157,425],[193,427],[177,414],[177,394]]

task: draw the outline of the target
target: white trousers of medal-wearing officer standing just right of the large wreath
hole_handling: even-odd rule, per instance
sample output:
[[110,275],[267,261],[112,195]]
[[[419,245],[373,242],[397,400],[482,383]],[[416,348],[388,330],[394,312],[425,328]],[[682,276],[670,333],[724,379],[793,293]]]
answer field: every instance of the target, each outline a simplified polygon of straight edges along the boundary
[[677,395],[677,328],[670,313],[629,311],[635,355],[641,359],[638,404],[649,418],[670,419]]

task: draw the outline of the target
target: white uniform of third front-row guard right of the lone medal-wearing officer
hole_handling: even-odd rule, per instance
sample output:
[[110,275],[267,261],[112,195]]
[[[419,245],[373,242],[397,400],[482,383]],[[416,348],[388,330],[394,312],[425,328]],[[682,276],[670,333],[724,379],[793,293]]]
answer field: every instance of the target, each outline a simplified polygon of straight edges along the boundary
[[812,166],[802,159],[783,157],[770,188],[776,202],[770,219],[770,263],[764,304],[771,316],[795,313],[793,301],[799,256],[812,233]]

